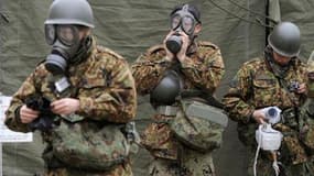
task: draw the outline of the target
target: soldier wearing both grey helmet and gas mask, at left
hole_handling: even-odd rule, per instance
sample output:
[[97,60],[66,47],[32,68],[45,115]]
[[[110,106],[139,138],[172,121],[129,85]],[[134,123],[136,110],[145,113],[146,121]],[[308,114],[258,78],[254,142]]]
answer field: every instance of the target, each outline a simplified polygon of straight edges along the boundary
[[[128,63],[98,46],[86,0],[55,0],[45,21],[52,52],[14,94],[6,124],[40,130],[46,176],[131,176],[121,132],[137,95]],[[113,140],[112,140],[113,139]]]

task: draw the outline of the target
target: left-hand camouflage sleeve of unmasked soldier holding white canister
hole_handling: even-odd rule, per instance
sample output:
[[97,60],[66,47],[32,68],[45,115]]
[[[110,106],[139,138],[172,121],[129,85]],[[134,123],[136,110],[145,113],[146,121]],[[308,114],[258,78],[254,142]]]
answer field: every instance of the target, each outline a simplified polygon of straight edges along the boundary
[[223,98],[229,118],[237,122],[249,122],[255,107],[248,103],[251,91],[251,78],[248,68],[242,67],[230,82],[228,92]]

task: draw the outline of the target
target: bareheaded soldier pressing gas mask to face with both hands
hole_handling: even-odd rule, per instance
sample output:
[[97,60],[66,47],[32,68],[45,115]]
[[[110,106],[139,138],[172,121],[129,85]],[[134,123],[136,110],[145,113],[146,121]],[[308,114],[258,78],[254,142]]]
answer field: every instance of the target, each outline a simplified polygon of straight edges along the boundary
[[[213,125],[207,128],[210,134],[217,132],[217,135],[213,134],[217,138],[210,141],[210,146],[197,150],[201,146],[193,146],[192,141],[204,139],[178,138],[180,134],[172,124],[184,117],[181,116],[183,100],[193,99],[207,103],[205,99],[212,97],[225,72],[221,54],[219,48],[209,42],[196,42],[202,28],[196,7],[177,6],[170,16],[171,31],[163,44],[149,48],[132,65],[138,92],[149,94],[151,105],[156,110],[152,118],[153,123],[142,133],[142,144],[154,157],[149,174],[213,176],[215,169],[212,151],[220,145],[221,129],[217,128],[215,131]],[[185,118],[190,118],[190,122],[197,120],[187,114]],[[201,129],[196,128],[197,130]],[[186,135],[194,136],[192,133]]]

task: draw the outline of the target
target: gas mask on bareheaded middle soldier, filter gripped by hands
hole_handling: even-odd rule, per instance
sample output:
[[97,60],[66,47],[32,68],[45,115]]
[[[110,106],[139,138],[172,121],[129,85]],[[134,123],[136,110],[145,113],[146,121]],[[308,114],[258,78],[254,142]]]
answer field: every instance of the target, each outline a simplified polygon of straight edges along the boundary
[[174,34],[171,35],[165,42],[167,50],[173,54],[180,52],[182,46],[180,32],[184,32],[190,36],[190,40],[193,41],[193,33],[197,23],[199,22],[188,11],[188,4],[185,4],[182,10],[175,12],[171,16],[171,29],[174,31]]

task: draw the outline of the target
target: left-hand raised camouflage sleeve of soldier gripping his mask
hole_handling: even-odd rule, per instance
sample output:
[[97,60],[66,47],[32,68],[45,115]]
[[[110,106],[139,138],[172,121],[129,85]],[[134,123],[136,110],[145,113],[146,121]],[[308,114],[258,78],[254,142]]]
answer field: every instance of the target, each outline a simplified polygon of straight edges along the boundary
[[172,63],[165,58],[163,50],[141,55],[132,65],[132,75],[137,90],[141,95],[149,94],[163,77],[163,73]]

